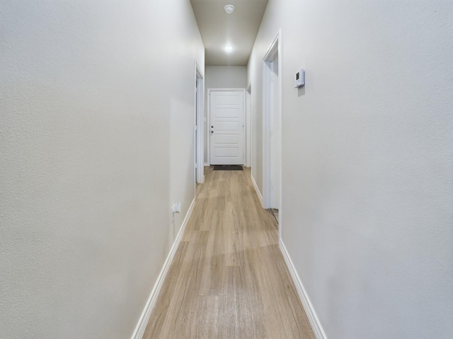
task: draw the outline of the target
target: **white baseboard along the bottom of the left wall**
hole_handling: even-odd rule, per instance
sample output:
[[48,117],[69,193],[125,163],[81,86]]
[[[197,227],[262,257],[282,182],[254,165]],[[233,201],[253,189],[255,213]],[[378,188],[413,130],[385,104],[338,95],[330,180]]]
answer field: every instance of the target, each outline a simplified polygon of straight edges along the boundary
[[171,266],[171,262],[173,261],[173,257],[176,254],[176,250],[178,249],[181,237],[184,233],[185,227],[188,224],[190,215],[192,215],[193,208],[195,206],[195,198],[193,199],[192,203],[190,204],[189,210],[185,215],[183,225],[181,225],[178,235],[176,235],[175,242],[173,246],[171,246],[170,253],[168,254],[166,261],[164,262],[164,266],[161,269],[161,273],[159,273],[159,277],[157,277],[156,284],[151,291],[151,295],[149,295],[147,304],[145,304],[144,310],[142,315],[140,316],[139,322],[135,327],[134,333],[132,333],[131,339],[142,339],[144,330],[147,328],[149,318],[151,317],[151,312],[154,309],[154,306],[157,302],[157,297],[159,297],[159,292],[161,292],[162,285],[168,273],[168,269]]

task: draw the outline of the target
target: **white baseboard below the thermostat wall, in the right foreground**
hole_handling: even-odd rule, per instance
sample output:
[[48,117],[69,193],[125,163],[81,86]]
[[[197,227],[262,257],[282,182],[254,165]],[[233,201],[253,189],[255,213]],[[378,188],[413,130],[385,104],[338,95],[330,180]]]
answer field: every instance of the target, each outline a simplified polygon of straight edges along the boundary
[[299,295],[299,298],[301,299],[302,304],[304,305],[306,315],[309,317],[311,328],[313,328],[316,339],[327,339],[326,333],[324,333],[321,323],[319,322],[318,316],[316,316],[316,312],[314,311],[313,305],[310,302],[309,296],[306,294],[304,285],[302,285],[302,281],[300,280],[299,275],[297,274],[297,270],[294,267],[294,264],[292,263],[291,257],[289,256],[282,239],[280,239],[279,245],[280,251],[282,251],[283,258],[285,258],[285,263],[287,265],[289,273],[291,274],[294,285],[296,285],[297,294]]

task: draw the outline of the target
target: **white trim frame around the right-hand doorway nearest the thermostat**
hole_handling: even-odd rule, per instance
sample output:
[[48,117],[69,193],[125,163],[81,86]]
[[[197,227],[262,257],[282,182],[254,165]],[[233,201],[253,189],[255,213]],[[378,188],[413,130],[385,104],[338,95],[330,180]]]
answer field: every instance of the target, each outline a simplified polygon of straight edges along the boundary
[[[278,57],[278,83],[277,83],[277,112],[272,112],[270,107],[270,68],[268,63]],[[271,204],[271,144],[270,144],[270,126],[272,124],[273,114],[277,114],[280,130],[277,139],[278,150],[280,151],[280,160],[277,163],[280,172],[279,189],[280,201],[278,211],[278,232],[282,237],[282,30],[278,30],[277,37],[273,40],[268,51],[263,57],[263,207],[270,208]]]

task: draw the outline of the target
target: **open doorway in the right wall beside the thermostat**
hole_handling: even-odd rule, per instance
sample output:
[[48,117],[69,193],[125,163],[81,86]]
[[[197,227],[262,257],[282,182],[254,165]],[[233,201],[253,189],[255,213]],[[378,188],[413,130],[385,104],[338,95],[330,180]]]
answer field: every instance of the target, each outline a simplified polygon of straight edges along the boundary
[[263,59],[263,205],[282,216],[282,106],[280,32]]

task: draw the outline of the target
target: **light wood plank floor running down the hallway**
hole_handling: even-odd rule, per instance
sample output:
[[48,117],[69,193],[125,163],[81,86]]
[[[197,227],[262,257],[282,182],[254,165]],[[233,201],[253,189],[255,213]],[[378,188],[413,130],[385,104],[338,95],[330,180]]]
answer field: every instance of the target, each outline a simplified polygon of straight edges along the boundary
[[205,178],[144,339],[314,339],[250,169]]

